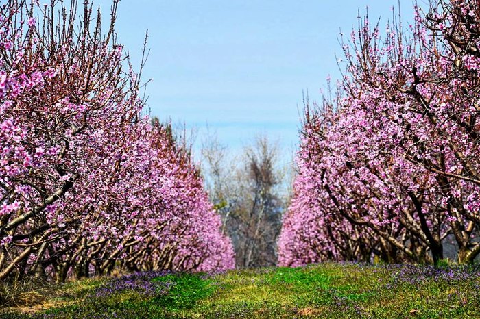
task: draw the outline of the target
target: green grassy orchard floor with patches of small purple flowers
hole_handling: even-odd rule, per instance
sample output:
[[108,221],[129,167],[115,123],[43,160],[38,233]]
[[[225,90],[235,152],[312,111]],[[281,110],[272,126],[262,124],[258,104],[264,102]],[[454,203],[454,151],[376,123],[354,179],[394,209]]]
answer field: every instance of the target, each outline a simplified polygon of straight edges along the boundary
[[[147,272],[32,292],[0,318],[480,318],[480,268],[320,264]],[[39,298],[38,296],[43,296]]]

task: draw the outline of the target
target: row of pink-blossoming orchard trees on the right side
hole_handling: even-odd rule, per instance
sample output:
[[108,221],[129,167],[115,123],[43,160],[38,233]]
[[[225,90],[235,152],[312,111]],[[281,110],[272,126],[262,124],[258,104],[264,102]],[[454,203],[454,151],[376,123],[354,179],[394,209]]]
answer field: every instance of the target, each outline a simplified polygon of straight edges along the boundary
[[479,255],[480,5],[440,2],[385,39],[361,19],[337,99],[307,107],[281,265]]

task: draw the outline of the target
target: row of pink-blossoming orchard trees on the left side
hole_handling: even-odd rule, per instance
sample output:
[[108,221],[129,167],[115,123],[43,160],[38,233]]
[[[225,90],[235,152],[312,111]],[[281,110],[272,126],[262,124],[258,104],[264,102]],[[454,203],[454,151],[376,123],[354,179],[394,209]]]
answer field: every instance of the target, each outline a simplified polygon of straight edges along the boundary
[[76,34],[51,7],[36,29],[27,2],[0,5],[0,279],[233,268],[197,168],[142,115],[111,34]]

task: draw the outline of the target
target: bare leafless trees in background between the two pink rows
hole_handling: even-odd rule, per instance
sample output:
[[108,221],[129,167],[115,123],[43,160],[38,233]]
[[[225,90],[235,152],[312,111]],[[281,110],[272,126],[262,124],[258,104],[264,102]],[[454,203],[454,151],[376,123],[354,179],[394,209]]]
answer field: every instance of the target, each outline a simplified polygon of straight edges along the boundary
[[235,159],[217,138],[202,150],[204,175],[224,231],[235,246],[237,267],[274,266],[276,240],[288,195],[282,192],[284,173],[278,146],[257,136]]

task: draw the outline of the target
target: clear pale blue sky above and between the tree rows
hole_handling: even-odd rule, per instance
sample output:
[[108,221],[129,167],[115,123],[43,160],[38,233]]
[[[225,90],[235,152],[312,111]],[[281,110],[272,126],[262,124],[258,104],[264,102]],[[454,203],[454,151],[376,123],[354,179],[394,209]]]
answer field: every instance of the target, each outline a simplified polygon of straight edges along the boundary
[[[94,0],[102,10],[108,0]],[[153,116],[195,128],[206,123],[233,153],[256,133],[278,140],[285,157],[298,144],[302,91],[320,100],[326,77],[339,78],[339,30],[357,10],[392,17],[396,0],[122,0],[119,42],[139,60],[145,30],[151,50],[143,79]],[[411,21],[411,1],[400,0]],[[108,12],[105,12],[106,16]]]

